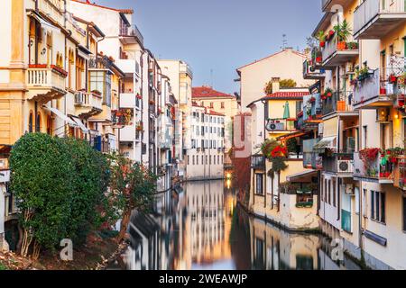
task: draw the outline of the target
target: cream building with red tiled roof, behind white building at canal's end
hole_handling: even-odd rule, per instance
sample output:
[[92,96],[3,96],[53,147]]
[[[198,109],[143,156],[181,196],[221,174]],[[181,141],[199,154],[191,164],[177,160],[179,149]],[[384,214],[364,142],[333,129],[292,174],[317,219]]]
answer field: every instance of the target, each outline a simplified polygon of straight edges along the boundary
[[[214,90],[210,86],[192,88],[192,100],[201,106],[225,114],[225,148],[226,152],[233,147],[233,122],[235,115],[240,111],[235,95]],[[231,159],[226,153],[226,164],[231,165]]]

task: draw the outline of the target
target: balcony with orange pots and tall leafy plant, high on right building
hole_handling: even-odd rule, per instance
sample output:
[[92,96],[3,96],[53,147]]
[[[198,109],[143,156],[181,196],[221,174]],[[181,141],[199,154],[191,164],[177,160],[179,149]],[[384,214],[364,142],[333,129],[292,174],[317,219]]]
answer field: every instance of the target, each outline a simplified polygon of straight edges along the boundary
[[[349,43],[352,43],[352,45],[349,45]],[[356,42],[348,40],[346,46],[342,49],[339,43],[337,43],[337,34],[335,34],[332,39],[326,42],[326,46],[321,51],[322,67],[337,67],[356,58],[359,54],[359,50],[358,44],[355,43]]]

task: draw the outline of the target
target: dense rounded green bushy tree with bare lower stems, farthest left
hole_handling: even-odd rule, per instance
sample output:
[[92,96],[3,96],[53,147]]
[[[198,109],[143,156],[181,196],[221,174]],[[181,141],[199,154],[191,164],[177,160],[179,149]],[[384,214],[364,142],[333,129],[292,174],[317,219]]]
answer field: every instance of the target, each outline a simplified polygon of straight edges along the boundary
[[25,134],[10,155],[11,189],[21,211],[21,255],[39,257],[41,247],[53,248],[67,235],[74,171],[67,147],[42,133]]

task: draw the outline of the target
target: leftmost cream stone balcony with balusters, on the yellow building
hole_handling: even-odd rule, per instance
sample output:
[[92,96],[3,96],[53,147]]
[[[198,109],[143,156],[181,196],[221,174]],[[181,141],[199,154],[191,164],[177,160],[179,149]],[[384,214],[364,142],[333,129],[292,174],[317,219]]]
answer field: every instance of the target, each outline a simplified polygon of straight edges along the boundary
[[59,67],[29,67],[26,73],[28,99],[47,103],[66,94],[66,72]]

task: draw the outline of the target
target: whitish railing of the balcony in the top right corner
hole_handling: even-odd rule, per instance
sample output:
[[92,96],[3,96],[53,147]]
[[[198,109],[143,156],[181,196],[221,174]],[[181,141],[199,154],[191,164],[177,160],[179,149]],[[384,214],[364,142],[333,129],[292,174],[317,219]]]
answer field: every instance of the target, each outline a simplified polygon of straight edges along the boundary
[[357,34],[378,14],[405,13],[404,0],[364,0],[354,13],[354,32]]

